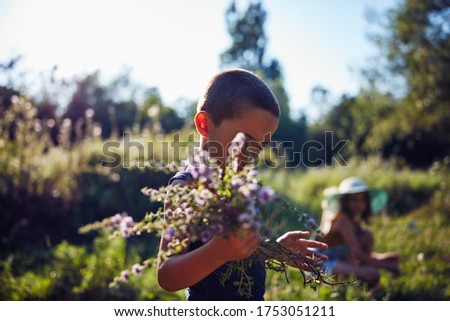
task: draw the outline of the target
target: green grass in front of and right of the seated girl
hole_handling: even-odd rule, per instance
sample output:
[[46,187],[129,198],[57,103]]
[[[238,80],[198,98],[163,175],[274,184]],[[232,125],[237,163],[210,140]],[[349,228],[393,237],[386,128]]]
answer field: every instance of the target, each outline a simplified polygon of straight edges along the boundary
[[[402,217],[375,217],[371,224],[376,250],[394,251],[400,256],[401,275],[392,278],[382,271],[384,290],[376,295],[356,286],[304,288],[300,275],[290,269],[287,283],[282,275],[270,273],[268,300],[449,300],[450,226],[445,213],[428,205]],[[413,224],[412,224],[413,223]]]

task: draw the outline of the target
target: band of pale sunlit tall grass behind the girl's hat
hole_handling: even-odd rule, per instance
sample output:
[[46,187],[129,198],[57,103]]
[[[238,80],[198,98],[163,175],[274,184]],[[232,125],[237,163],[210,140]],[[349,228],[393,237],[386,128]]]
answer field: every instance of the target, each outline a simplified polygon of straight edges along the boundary
[[311,168],[305,171],[267,169],[261,172],[264,182],[291,199],[300,210],[310,215],[321,213],[323,191],[338,186],[347,177],[358,176],[372,188],[385,189],[389,194],[387,213],[406,214],[431,199],[445,183],[442,172],[397,168],[379,158],[352,159],[348,166]]

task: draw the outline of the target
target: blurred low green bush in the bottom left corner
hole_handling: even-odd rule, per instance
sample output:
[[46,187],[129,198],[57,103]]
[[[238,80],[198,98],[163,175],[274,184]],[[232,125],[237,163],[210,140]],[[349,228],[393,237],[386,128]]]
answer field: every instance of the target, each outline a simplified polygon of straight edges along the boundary
[[[95,238],[91,251],[67,242],[58,244],[46,263],[10,256],[0,263],[1,300],[180,300],[183,291],[163,291],[154,268],[130,282],[111,287],[114,278],[141,259],[123,238]],[[16,262],[15,262],[16,261]],[[30,265],[29,265],[30,264]],[[14,268],[14,265],[16,267]],[[30,268],[31,266],[31,268]],[[25,271],[15,272],[15,271]]]

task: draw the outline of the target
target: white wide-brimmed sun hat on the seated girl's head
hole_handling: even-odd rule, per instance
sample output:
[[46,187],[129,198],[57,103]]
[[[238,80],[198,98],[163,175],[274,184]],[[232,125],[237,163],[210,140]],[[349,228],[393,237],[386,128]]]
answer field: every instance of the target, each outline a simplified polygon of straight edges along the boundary
[[380,213],[387,204],[388,195],[382,189],[369,189],[366,183],[359,177],[348,177],[339,186],[328,187],[324,190],[324,196],[328,209],[332,212],[339,211],[340,199],[346,194],[367,192],[370,197],[372,213]]

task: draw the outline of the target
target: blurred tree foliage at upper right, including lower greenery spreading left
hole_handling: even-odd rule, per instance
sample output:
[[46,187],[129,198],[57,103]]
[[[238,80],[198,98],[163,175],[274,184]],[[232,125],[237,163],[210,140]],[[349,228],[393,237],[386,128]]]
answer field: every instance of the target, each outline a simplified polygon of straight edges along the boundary
[[[349,155],[383,155],[426,167],[450,153],[450,1],[404,0],[377,17],[381,62],[323,127],[349,139]],[[400,84],[400,86],[399,86]]]

